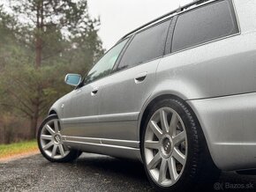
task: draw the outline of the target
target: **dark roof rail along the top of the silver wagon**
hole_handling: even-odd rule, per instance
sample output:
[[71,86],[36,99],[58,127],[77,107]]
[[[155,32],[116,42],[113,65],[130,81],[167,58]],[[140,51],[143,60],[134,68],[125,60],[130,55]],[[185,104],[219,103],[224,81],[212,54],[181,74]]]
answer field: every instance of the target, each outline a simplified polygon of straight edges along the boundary
[[192,3],[190,3],[190,4],[185,4],[184,6],[179,7],[179,8],[177,8],[177,9],[174,10],[174,11],[170,11],[170,12],[168,12],[168,13],[162,15],[162,16],[159,17],[159,18],[155,18],[154,20],[148,22],[147,24],[145,24],[145,25],[143,25],[143,26],[139,26],[138,28],[134,29],[132,32],[125,34],[124,37],[122,37],[121,40],[124,40],[124,38],[130,36],[132,33],[138,32],[139,30],[145,28],[146,26],[149,26],[149,25],[154,24],[155,22],[161,20],[162,18],[167,18],[168,16],[173,15],[173,14],[175,14],[175,13],[177,13],[177,12],[186,10],[186,9],[192,7],[193,5],[203,4],[203,3],[207,2],[207,1],[210,1],[210,0],[195,0],[195,1],[193,1]]

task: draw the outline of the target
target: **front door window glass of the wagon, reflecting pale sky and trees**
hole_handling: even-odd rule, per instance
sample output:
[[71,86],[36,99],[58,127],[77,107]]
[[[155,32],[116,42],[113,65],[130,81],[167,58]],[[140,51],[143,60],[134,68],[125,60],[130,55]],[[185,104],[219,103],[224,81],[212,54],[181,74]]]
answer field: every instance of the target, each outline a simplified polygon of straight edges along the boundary
[[85,79],[85,84],[89,84],[92,81],[108,76],[117,62],[118,55],[120,55],[128,39],[120,42],[114,48],[111,48],[102,59],[96,63],[92,70],[90,70]]

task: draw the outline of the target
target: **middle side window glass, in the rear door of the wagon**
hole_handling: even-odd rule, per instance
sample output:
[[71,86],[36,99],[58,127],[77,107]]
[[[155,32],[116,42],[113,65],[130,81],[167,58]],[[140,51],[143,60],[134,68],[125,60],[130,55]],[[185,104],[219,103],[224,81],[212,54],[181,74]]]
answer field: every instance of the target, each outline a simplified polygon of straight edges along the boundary
[[117,67],[123,70],[162,56],[165,48],[169,20],[137,33]]

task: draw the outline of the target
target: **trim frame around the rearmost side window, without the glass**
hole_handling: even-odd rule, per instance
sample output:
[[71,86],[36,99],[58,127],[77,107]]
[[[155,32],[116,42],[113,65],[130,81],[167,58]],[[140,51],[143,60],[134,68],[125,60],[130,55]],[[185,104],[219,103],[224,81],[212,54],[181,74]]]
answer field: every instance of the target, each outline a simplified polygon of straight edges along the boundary
[[227,39],[227,38],[230,38],[230,37],[234,37],[234,36],[237,36],[237,35],[240,35],[241,34],[241,28],[240,28],[240,25],[239,25],[239,21],[238,21],[238,18],[237,18],[237,10],[235,9],[235,6],[234,6],[234,2],[233,0],[222,0],[222,1],[226,1],[229,3],[229,7],[231,9],[231,13],[232,13],[232,16],[233,16],[233,19],[235,22],[237,22],[237,28],[238,28],[238,31],[237,33],[232,33],[230,35],[226,35],[226,36],[223,36],[223,37],[220,37],[220,38],[216,38],[214,40],[211,40],[211,41],[206,41],[206,42],[202,42],[200,44],[197,44],[197,45],[194,45],[194,46],[191,46],[191,47],[188,47],[188,48],[182,48],[180,50],[177,50],[177,51],[172,51],[172,43],[173,43],[173,38],[174,38],[174,32],[175,32],[175,29],[176,29],[176,24],[177,24],[177,18],[180,17],[181,15],[183,14],[186,14],[187,12],[190,12],[190,11],[194,11],[194,10],[197,10],[197,9],[200,9],[202,7],[205,7],[205,6],[208,6],[208,5],[211,5],[211,4],[218,4],[219,2],[218,1],[212,1],[208,4],[202,4],[194,9],[191,9],[191,10],[188,10],[188,11],[184,11],[184,12],[181,12],[179,14],[177,14],[175,17],[177,17],[175,19],[175,27],[173,27],[172,29],[172,38],[171,38],[171,46],[169,48],[169,53],[167,53],[166,55],[164,55],[163,57],[167,56],[167,55],[174,55],[174,54],[177,54],[177,53],[180,53],[180,52],[183,52],[183,51],[186,51],[186,50],[189,50],[189,49],[192,49],[192,48],[197,48],[197,47],[200,47],[200,46],[204,46],[204,45],[207,45],[209,43],[213,43],[215,41],[222,41],[224,39]]

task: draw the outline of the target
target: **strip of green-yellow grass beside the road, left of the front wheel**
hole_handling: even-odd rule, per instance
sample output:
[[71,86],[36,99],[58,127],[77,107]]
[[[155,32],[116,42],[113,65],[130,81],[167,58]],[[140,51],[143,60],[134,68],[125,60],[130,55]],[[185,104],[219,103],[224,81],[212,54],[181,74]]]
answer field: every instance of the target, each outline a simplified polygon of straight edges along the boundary
[[15,144],[0,144],[0,159],[37,150],[38,147],[35,140]]

